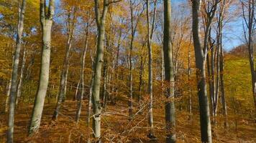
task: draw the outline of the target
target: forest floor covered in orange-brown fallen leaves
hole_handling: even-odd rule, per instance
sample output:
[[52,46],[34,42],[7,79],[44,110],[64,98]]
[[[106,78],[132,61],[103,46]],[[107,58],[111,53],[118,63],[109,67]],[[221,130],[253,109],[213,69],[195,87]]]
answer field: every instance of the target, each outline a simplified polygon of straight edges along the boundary
[[[29,117],[32,104],[19,104],[15,117],[14,142],[87,142],[91,127],[86,126],[87,100],[84,100],[81,122],[76,125],[76,101],[66,100],[57,122],[50,122],[55,104],[45,104],[39,132],[27,137]],[[135,114],[132,121],[127,117],[126,102],[107,105],[106,112],[101,116],[101,134],[103,142],[165,142],[164,107],[154,108],[155,136],[157,140],[147,138],[147,114]],[[196,111],[195,111],[196,112]],[[188,112],[176,112],[178,142],[200,142],[200,124],[198,114],[188,119]],[[6,142],[7,114],[0,117],[0,142]],[[256,142],[256,127],[252,121],[242,117],[228,119],[229,125],[224,129],[223,119],[217,119],[212,126],[214,142]],[[236,125],[237,124],[237,125]],[[91,140],[93,142],[93,140]]]

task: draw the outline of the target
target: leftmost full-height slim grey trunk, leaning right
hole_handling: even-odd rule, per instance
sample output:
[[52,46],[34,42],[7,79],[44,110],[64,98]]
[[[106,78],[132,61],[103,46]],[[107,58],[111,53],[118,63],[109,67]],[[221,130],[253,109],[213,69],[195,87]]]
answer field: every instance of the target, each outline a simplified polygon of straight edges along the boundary
[[18,69],[19,69],[19,54],[22,47],[22,34],[24,29],[24,13],[25,13],[26,1],[22,0],[22,6],[19,6],[19,19],[18,19],[18,34],[16,41],[16,49],[14,54],[14,64],[12,66],[12,85],[9,98],[9,121],[8,121],[8,132],[7,142],[14,142],[14,110],[15,100],[17,96],[17,82],[18,82]]

